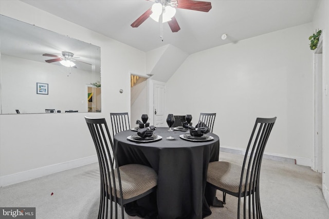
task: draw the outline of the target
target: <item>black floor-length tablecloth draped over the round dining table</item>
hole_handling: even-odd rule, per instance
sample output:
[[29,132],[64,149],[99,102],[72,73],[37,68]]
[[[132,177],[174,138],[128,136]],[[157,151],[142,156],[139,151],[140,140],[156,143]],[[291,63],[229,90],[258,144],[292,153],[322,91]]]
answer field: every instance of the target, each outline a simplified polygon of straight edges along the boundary
[[[206,217],[211,214],[208,203],[215,196],[215,190],[208,186],[206,189],[207,169],[209,162],[218,161],[219,137],[208,133],[214,137],[213,141],[189,142],[179,137],[185,132],[167,130],[157,128],[154,133],[162,136],[162,140],[153,143],[128,141],[127,136],[137,134],[131,130],[114,136],[119,166],[142,164],[158,174],[156,194],[126,205],[126,212],[160,219]],[[167,140],[169,135],[175,139]]]

